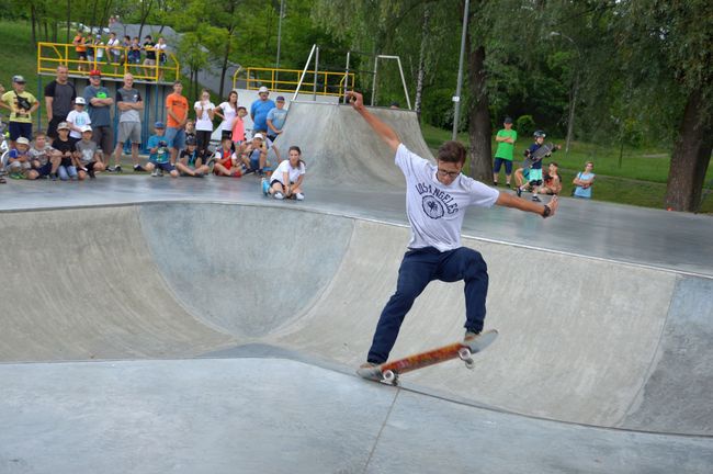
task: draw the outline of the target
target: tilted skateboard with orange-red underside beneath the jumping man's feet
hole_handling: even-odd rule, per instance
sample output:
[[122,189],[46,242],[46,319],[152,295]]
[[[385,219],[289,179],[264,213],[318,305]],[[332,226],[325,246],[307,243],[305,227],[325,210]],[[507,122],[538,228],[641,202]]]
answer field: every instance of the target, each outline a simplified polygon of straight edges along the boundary
[[363,379],[398,385],[398,376],[400,374],[455,358],[460,358],[465,362],[467,369],[473,369],[475,368],[473,356],[485,350],[497,337],[498,331],[491,329],[468,341],[454,342],[426,352],[408,356],[404,359],[384,362],[373,368],[359,369],[356,370],[356,374]]

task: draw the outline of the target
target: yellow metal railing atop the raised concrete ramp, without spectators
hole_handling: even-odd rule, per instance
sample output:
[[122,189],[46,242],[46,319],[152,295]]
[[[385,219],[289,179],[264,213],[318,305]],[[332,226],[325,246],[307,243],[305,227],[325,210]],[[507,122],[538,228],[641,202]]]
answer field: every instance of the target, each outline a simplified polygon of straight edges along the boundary
[[[299,69],[276,69],[276,68],[247,68],[238,69],[233,75],[233,88],[236,89],[238,80],[246,81],[246,89],[254,90],[265,86],[271,92],[294,92],[299,84]],[[241,78],[241,76],[245,76]],[[316,89],[317,95],[343,97],[347,90],[354,88],[354,74],[318,71],[317,87],[315,88],[315,71],[307,71],[302,82],[301,93],[313,93]]]

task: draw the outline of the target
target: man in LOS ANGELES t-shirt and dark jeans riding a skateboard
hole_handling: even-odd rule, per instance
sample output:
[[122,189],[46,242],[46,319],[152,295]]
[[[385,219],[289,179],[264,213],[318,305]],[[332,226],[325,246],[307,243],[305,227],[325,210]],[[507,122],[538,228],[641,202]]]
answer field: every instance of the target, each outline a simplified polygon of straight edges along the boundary
[[353,109],[396,154],[395,162],[406,177],[406,213],[411,239],[398,272],[396,293],[384,307],[366,363],[374,366],[388,358],[401,321],[416,297],[432,280],[465,282],[465,338],[483,330],[488,291],[487,267],[479,252],[461,246],[461,227],[469,205],[494,204],[548,217],[557,211],[557,199],[542,205],[525,201],[461,174],[465,147],[445,142],[435,165],[411,153],[396,133],[364,108],[362,94],[348,92]]

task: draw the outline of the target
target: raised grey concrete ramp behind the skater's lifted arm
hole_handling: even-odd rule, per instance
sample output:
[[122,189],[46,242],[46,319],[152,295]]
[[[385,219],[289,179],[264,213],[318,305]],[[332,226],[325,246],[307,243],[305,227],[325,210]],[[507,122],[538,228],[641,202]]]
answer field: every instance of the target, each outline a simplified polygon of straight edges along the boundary
[[[370,109],[392,126],[404,144],[423,158],[432,158],[423,142],[416,113],[407,110]],[[292,102],[284,133],[275,142],[281,153],[296,145],[302,149],[308,179],[335,187],[404,188],[404,176],[394,166],[394,154],[374,135],[351,105]]]

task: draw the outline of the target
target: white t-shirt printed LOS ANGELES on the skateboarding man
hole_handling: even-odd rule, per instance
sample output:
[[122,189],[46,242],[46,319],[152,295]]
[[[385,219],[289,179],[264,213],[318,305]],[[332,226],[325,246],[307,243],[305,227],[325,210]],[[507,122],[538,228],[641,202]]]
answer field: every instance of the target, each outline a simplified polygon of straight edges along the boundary
[[[459,174],[450,185],[441,183],[437,166],[410,151],[404,144],[396,150],[396,165],[406,177],[406,214],[411,224],[408,247],[434,247],[439,251],[461,247],[465,208],[491,207],[500,192]],[[274,174],[273,174],[274,176]]]

